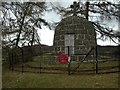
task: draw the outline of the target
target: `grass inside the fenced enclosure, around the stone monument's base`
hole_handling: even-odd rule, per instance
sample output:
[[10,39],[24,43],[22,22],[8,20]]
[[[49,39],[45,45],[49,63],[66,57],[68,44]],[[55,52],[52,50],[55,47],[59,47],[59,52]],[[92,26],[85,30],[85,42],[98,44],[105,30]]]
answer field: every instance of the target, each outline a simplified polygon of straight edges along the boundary
[[[44,59],[43,59],[44,58]],[[51,63],[52,62],[52,63]],[[70,70],[71,73],[75,68],[78,66],[78,63],[75,61],[71,62]],[[116,67],[117,66],[117,67]],[[99,73],[107,73],[107,72],[116,72],[118,71],[118,61],[104,61],[99,62],[98,64],[98,72]],[[115,67],[115,68],[114,68]],[[41,68],[41,70],[40,70]],[[75,71],[75,74],[82,74],[82,73],[95,73],[95,63],[82,63],[80,64],[79,68]],[[15,70],[22,70],[21,65],[15,68]],[[24,71],[29,72],[49,72],[49,73],[67,73],[68,65],[61,65],[57,60],[55,61],[53,57],[48,55],[44,55],[44,57],[37,56],[34,58],[33,61],[26,62],[24,64]]]

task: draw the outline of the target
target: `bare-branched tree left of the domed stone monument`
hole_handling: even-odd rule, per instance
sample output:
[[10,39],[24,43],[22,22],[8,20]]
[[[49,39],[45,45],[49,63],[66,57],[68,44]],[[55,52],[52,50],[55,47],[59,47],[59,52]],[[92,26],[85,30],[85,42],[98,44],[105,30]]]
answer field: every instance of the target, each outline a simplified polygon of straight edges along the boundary
[[0,5],[3,46],[40,44],[36,28],[49,24],[42,18],[45,2],[2,2]]

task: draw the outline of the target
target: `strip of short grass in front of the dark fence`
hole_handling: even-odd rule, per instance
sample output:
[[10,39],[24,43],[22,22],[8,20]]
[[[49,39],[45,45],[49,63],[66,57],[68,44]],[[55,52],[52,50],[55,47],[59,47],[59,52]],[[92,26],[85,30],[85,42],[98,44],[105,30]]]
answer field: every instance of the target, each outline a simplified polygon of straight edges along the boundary
[[39,74],[3,70],[3,88],[117,88],[118,73],[94,75]]

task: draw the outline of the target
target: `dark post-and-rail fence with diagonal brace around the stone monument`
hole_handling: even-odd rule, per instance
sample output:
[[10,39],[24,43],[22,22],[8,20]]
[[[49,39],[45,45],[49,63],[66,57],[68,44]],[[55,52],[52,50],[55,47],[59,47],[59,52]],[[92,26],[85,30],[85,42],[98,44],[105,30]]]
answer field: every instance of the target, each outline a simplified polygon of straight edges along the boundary
[[[91,48],[86,54],[71,54],[69,55],[70,62],[61,64],[58,59],[59,55],[63,52],[51,53],[51,51],[48,51],[47,53],[41,53],[37,56],[31,56],[32,54],[27,55],[22,48],[12,49],[8,52],[9,69],[20,72],[58,73],[69,75],[73,73],[95,74],[96,72],[112,73],[120,71],[119,56],[111,55],[109,51],[109,54],[100,54],[98,50],[97,53],[95,51],[96,48]],[[62,61],[64,61],[64,58]]]

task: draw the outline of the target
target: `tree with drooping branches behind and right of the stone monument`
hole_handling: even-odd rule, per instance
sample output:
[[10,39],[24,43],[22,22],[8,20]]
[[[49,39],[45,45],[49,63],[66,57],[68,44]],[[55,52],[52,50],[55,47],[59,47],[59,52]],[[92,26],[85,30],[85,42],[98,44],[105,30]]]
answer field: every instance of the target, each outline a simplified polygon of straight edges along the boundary
[[[61,15],[61,18],[65,18],[71,15],[75,15],[75,12],[78,16],[81,16],[83,18],[86,18],[88,21],[90,21],[99,35],[98,39],[101,40],[112,40],[114,43],[118,44],[116,42],[116,39],[120,38],[120,30],[114,30],[114,28],[111,28],[109,26],[103,25],[103,21],[110,21],[112,19],[118,20],[119,22],[119,6],[120,4],[114,4],[109,1],[91,1],[91,2],[74,2],[74,5],[76,5],[76,11],[73,10],[74,6],[71,5],[68,8],[62,7],[59,3],[57,6],[51,3],[52,8],[55,12],[57,12],[59,15]],[[97,20],[94,20],[94,17],[99,17]],[[95,16],[96,15],[96,16]],[[93,19],[92,19],[93,18]],[[58,24],[55,23],[56,25]]]

